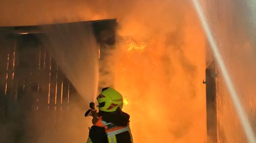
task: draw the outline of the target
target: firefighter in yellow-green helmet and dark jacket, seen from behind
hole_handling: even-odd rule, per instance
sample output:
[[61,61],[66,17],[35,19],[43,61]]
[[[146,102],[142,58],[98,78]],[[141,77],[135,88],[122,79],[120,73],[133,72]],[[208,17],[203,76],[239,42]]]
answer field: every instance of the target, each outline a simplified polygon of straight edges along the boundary
[[97,97],[99,120],[91,127],[87,143],[132,143],[130,116],[122,111],[123,98],[112,88]]

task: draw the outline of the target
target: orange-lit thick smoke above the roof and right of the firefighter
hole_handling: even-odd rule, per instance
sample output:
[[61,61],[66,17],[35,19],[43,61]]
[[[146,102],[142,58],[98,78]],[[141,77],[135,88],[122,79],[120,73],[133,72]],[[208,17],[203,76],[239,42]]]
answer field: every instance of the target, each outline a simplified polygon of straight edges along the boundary
[[[0,9],[9,16],[1,13],[0,17],[5,19],[1,25],[117,18],[120,27],[113,67],[115,87],[129,102],[124,111],[131,115],[134,141],[204,141],[205,87],[201,82],[205,39],[189,1],[3,4]],[[136,46],[144,49],[138,50]]]

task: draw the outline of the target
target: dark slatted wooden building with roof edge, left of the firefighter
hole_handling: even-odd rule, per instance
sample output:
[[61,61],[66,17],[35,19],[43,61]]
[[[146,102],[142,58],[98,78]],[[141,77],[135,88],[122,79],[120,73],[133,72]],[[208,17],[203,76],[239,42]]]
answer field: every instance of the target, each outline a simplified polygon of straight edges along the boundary
[[[95,78],[95,80],[104,79],[104,76],[114,78],[114,73],[109,71],[106,66],[108,65],[108,52],[106,50],[115,48],[116,26],[116,19],[108,19],[50,25],[0,27],[0,120],[3,123],[1,123],[3,127],[1,129],[2,141],[30,142],[35,141],[33,139],[38,140],[41,134],[45,134],[46,131],[53,132],[58,124],[65,123],[67,119],[63,118],[73,116],[71,112],[76,106],[75,104],[79,104],[81,108],[88,107],[88,105],[83,104],[89,103],[93,98],[84,97],[95,96],[97,89],[95,95],[80,92],[79,90],[86,87],[82,87],[84,84],[81,80],[77,81],[73,77],[77,76],[77,78],[85,80],[84,82],[91,82],[91,87],[94,86],[94,83],[91,79],[82,77],[86,73],[80,73],[79,70],[81,72],[89,71],[92,68],[94,68],[93,70],[99,70],[100,78]],[[67,34],[65,35],[59,33],[58,30],[61,30],[61,32],[68,30],[68,33],[65,33]],[[79,35],[74,34],[75,32]],[[61,39],[51,39],[53,38],[51,36],[57,36]],[[72,37],[72,41],[81,37],[90,40],[83,40],[86,43],[81,43],[82,41],[79,40],[72,43],[70,37]],[[92,45],[91,41],[95,41],[95,44]],[[63,43],[66,45],[63,45]],[[75,44],[80,45],[76,46]],[[84,54],[84,47],[82,47],[84,45],[90,45],[91,47],[87,48],[94,49],[95,61],[98,61],[99,65],[86,66],[86,62],[92,61],[84,60],[83,56],[90,56],[90,59],[94,57],[87,53]],[[82,54],[80,56],[76,54],[78,58],[73,57],[72,61],[71,56],[73,54],[69,54],[72,51],[81,52]],[[90,52],[90,50],[87,50],[87,52]],[[65,54],[67,59],[58,59],[59,53]],[[78,70],[71,77],[67,75],[69,73],[66,71],[67,66],[76,64],[76,62],[83,62],[85,66],[72,65],[72,67],[68,67]],[[98,68],[95,68],[96,66]],[[82,68],[90,69],[84,70]],[[90,76],[98,75],[91,74]],[[78,87],[77,82],[80,82],[80,87]],[[114,81],[106,83],[104,80],[99,80],[96,83],[100,89],[103,86],[114,85]],[[88,86],[90,87],[90,85]],[[31,119],[27,120],[27,118]],[[12,125],[9,126],[9,123],[14,124],[17,128],[8,130],[8,128],[13,127]],[[87,129],[87,127],[84,127],[84,129]],[[33,137],[30,136],[31,131],[34,131]],[[50,133],[45,138],[52,140]],[[44,141],[46,140],[44,139]],[[70,140],[66,141],[70,142]]]

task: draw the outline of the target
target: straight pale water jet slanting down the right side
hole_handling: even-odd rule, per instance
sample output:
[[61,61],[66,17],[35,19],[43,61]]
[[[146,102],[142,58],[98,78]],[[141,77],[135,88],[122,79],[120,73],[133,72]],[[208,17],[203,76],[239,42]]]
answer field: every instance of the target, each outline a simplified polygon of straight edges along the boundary
[[209,25],[207,23],[207,20],[205,18],[205,15],[202,11],[202,8],[200,6],[200,3],[198,2],[198,0],[192,0],[193,1],[193,4],[194,4],[194,7],[197,11],[197,14],[200,18],[200,21],[201,21],[201,24],[203,26],[203,29],[205,31],[205,34],[206,34],[206,37],[210,43],[210,47],[211,47],[211,50],[212,50],[212,53],[214,54],[214,57],[218,63],[218,66],[220,68],[220,71],[223,75],[223,78],[225,80],[225,83],[226,83],[226,86],[228,88],[228,91],[229,91],[229,95],[233,101],[233,104],[234,104],[234,107],[238,113],[238,117],[240,119],[240,122],[242,124],[242,127],[243,127],[243,130],[245,132],[245,135],[248,139],[248,141],[250,143],[255,143],[256,140],[255,140],[255,137],[254,137],[254,133],[253,133],[253,130],[251,128],[251,125],[248,121],[248,118],[246,116],[246,113],[243,109],[243,106],[241,104],[241,101],[239,100],[238,98],[238,94],[236,92],[236,90],[234,89],[234,86],[233,86],[233,83],[230,79],[230,76],[228,74],[228,71],[226,69],[226,66],[224,64],[224,61],[222,60],[222,57],[221,57],[221,54],[220,54],[220,51],[219,51],[219,48],[216,44],[216,41],[214,39],[214,37],[212,36],[212,33],[211,33],[211,30],[209,28]]

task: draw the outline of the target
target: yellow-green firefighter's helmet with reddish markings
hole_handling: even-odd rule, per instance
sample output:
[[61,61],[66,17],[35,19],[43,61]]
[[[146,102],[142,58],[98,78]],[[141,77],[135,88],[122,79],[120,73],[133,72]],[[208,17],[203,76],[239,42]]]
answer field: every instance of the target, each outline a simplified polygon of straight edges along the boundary
[[122,95],[112,88],[105,88],[97,97],[99,103],[99,110],[105,112],[116,111],[118,107],[122,109],[123,98]]

